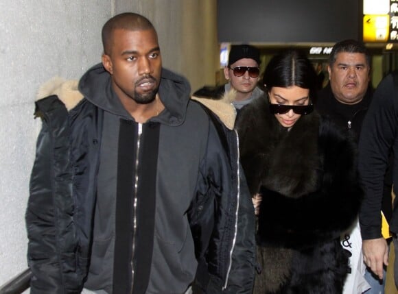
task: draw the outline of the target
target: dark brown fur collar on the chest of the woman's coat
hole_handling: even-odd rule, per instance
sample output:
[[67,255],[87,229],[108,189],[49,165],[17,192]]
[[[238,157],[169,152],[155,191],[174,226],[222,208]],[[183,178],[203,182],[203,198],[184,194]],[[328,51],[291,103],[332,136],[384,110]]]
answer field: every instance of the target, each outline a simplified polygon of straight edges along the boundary
[[279,129],[280,140],[268,142],[268,148],[261,150],[271,155],[264,160],[261,186],[294,198],[315,191],[320,167],[318,129],[316,113],[301,117],[288,132]]

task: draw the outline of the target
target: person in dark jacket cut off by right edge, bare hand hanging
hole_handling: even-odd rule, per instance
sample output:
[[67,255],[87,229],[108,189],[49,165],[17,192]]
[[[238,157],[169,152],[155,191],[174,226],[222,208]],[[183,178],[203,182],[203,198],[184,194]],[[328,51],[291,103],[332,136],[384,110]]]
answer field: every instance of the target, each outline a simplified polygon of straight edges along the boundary
[[[398,152],[398,74],[390,73],[375,90],[373,101],[364,119],[360,137],[360,173],[365,188],[364,204],[361,211],[361,226],[364,238],[369,243],[368,252],[364,252],[364,261],[379,278],[383,276],[383,267],[388,265],[388,245],[382,236],[379,215],[382,206],[383,179],[390,162],[390,152]],[[397,194],[398,157],[393,160],[393,191]],[[390,232],[393,233],[395,257],[398,243],[398,210],[393,211],[390,219]],[[398,286],[398,262],[395,259],[395,284]]]

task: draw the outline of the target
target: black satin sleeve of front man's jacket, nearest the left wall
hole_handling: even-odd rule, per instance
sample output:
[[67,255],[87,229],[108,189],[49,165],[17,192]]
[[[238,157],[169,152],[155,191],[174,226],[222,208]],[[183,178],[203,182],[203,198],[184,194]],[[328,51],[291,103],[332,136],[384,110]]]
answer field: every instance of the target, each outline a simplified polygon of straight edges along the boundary
[[60,265],[56,250],[56,228],[52,205],[51,149],[45,121],[38,135],[36,160],[30,178],[30,197],[25,221],[27,259],[32,270],[31,293],[61,293]]

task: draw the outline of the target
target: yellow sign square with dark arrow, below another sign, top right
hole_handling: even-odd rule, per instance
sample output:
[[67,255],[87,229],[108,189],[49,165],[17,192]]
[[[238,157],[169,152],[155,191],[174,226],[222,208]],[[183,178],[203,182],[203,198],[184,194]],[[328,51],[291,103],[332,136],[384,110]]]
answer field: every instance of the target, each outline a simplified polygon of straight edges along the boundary
[[390,16],[371,15],[364,16],[364,42],[386,42],[390,29]]

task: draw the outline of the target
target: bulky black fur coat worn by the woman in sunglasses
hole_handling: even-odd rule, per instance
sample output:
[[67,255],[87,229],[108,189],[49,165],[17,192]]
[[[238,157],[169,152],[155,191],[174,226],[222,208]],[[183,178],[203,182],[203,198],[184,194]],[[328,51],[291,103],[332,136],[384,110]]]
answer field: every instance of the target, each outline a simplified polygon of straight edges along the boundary
[[[325,260],[336,259],[340,234],[358,216],[363,192],[355,145],[317,112],[287,131],[270,114],[266,95],[242,108],[236,128],[250,192],[263,195],[257,227],[263,272],[255,292],[283,292],[292,266],[300,266],[301,256],[320,243],[330,248],[322,249],[329,254]],[[319,268],[329,272],[329,267]]]

